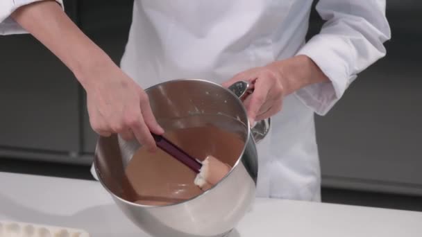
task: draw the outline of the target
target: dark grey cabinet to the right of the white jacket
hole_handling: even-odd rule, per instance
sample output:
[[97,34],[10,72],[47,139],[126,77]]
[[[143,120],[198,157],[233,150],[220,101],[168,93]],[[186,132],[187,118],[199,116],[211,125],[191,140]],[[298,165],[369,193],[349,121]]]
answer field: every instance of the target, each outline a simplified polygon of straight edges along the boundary
[[422,195],[420,1],[387,1],[387,57],[316,117],[323,185]]

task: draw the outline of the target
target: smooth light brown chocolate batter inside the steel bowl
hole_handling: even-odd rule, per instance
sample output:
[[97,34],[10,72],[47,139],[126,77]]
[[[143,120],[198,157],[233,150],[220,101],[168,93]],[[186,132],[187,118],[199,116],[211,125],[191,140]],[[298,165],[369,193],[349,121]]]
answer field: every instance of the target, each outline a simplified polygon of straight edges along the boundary
[[[245,144],[238,134],[213,125],[169,131],[164,137],[196,159],[203,161],[212,155],[232,167]],[[160,206],[203,193],[194,184],[196,173],[160,149],[151,153],[141,147],[129,161],[125,173],[124,198],[130,202]]]

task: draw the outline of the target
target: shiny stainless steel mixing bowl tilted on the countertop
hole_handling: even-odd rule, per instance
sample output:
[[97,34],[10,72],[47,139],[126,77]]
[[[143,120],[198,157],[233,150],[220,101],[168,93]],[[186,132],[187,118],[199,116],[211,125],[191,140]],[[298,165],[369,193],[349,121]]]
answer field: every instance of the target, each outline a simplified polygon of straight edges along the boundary
[[230,173],[210,190],[184,202],[154,207],[125,200],[121,185],[124,169],[140,144],[117,135],[99,138],[94,156],[96,174],[135,225],[157,237],[225,236],[237,225],[255,198],[258,155],[254,140],[258,142],[269,130],[269,120],[258,122],[255,130],[249,127],[239,99],[247,91],[246,82],[237,82],[229,90],[197,79],[171,80],[146,89],[153,113],[164,130],[212,124],[244,139],[242,155],[235,157]]

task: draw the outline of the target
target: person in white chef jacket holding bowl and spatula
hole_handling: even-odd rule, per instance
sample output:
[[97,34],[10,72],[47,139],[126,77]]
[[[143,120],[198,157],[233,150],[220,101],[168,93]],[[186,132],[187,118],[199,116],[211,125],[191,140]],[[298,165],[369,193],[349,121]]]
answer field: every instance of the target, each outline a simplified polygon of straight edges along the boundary
[[248,118],[271,117],[272,125],[258,144],[258,196],[318,202],[314,114],[330,111],[357,74],[385,56],[385,5],[320,0],[326,23],[305,42],[312,0],[135,0],[119,66],[65,15],[62,1],[1,0],[0,34],[31,33],[87,92],[98,134],[135,138],[150,150],[150,131],[164,131],[142,88],[177,78],[253,82]]

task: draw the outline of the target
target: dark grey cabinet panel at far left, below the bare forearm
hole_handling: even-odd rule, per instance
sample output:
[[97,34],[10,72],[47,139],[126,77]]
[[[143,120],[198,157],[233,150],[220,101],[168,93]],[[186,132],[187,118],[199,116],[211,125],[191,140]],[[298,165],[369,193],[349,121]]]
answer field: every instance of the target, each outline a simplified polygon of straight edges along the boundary
[[78,82],[31,35],[0,37],[0,146],[79,151]]

